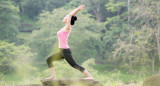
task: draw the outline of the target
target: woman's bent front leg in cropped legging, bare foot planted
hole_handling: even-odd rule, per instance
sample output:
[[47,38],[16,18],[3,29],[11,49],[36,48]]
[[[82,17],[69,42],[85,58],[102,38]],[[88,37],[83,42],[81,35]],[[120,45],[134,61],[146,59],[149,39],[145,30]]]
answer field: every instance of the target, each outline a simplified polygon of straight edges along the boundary
[[61,59],[64,59],[64,57],[61,55],[60,52],[55,53],[52,56],[50,56],[49,58],[47,58],[47,64],[48,64],[49,70],[51,72],[51,76],[46,78],[46,80],[55,80],[56,79],[54,65],[52,62],[57,61],[57,60],[61,60]]

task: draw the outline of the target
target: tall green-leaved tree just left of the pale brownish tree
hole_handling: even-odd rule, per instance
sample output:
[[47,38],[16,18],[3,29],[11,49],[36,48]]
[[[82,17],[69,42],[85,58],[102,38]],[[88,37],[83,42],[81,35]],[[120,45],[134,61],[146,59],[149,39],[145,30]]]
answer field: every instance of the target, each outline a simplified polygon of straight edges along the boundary
[[[128,32],[128,22],[127,22],[127,5],[125,1],[120,0],[109,0],[105,5],[107,10],[107,18],[104,22],[106,29],[102,30],[103,35],[101,36],[103,40],[103,48],[105,58],[113,58],[113,52],[118,48],[116,44],[121,41],[129,42],[127,39]],[[127,40],[126,40],[127,39]],[[119,46],[120,47],[120,46]],[[111,60],[113,62],[117,60]],[[116,62],[117,65],[121,62]]]

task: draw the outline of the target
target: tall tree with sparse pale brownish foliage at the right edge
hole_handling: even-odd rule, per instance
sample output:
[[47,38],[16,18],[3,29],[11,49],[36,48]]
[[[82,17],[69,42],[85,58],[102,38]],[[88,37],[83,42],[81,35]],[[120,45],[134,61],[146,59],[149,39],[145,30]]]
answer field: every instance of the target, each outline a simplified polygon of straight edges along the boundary
[[[121,49],[128,48],[122,54],[126,54],[127,56],[129,55],[129,57],[132,58],[143,57],[144,60],[149,57],[152,63],[152,72],[155,71],[156,59],[158,58],[158,41],[156,40],[156,38],[158,38],[158,35],[156,35],[158,32],[156,29],[158,27],[158,23],[155,21],[157,19],[156,3],[157,1],[141,2],[137,0],[131,2],[132,8],[128,16],[129,36],[126,37],[124,41],[120,38],[121,41],[119,41],[119,43],[117,42],[119,48],[115,49],[115,54],[117,54]],[[137,50],[140,50],[139,56],[137,56],[137,53],[133,53]],[[130,51],[132,51],[132,53]],[[144,56],[141,56],[140,54]],[[146,56],[146,54],[148,56]],[[131,60],[132,59],[130,58],[130,69],[132,65]]]

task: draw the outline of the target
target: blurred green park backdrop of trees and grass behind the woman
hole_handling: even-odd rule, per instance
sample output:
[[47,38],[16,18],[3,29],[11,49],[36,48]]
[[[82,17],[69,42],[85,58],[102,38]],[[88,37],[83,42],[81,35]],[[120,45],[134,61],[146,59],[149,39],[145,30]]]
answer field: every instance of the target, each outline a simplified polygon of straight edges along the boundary
[[[141,86],[160,73],[159,0],[0,0],[0,85],[40,83],[59,51],[57,31],[76,7],[69,46],[75,61],[104,86]],[[57,79],[85,76],[65,60]]]

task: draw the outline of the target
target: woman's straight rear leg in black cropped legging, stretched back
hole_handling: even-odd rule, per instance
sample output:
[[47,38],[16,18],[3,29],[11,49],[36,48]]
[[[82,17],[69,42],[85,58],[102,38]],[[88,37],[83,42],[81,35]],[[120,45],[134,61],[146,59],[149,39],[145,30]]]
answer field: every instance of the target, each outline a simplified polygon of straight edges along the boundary
[[71,50],[70,49],[67,49],[67,50],[64,50],[63,53],[63,57],[65,58],[65,60],[75,69],[78,69],[79,71],[81,71],[83,74],[85,74],[87,76],[87,78],[83,78],[83,79],[94,79],[92,77],[92,75],[86,70],[84,69],[82,66],[78,65],[75,60],[73,59],[72,57],[72,54],[71,54]]

